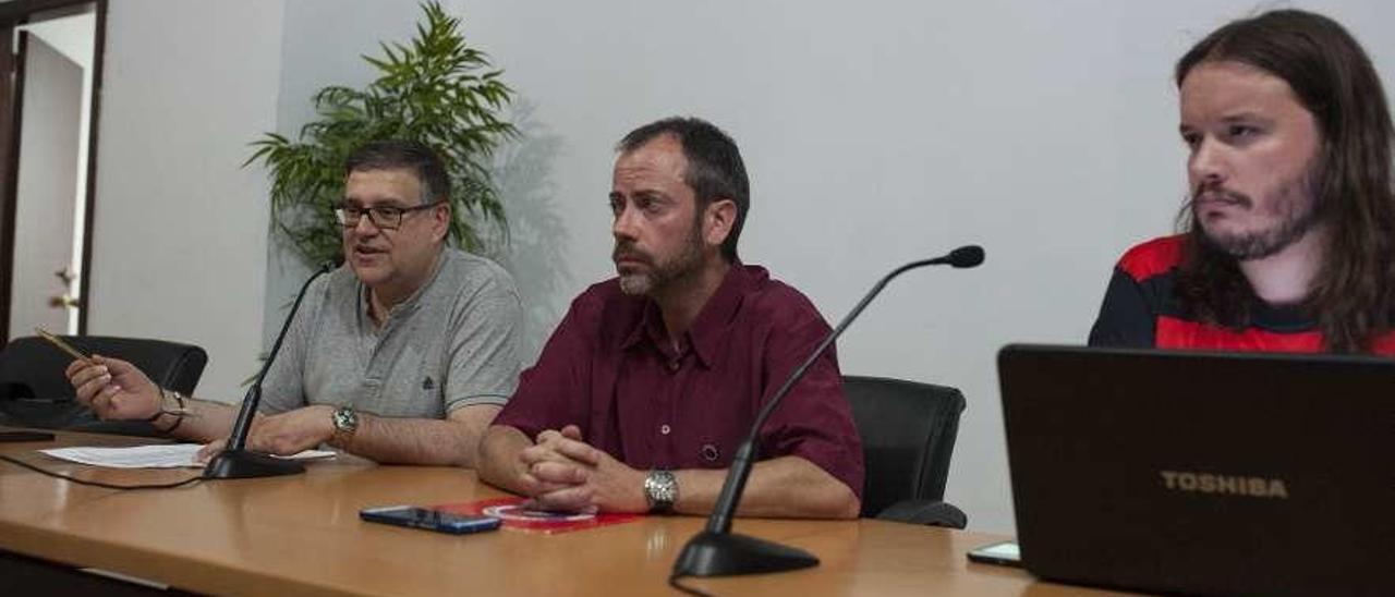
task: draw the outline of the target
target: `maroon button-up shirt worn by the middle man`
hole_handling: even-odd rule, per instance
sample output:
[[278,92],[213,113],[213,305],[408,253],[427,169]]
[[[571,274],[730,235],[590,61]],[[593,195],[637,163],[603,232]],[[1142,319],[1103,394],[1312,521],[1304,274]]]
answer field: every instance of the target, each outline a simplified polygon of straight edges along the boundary
[[[829,333],[798,290],[734,265],[679,342],[658,305],[611,279],[572,301],[495,425],[583,439],[640,470],[724,469],[762,405]],[[799,456],[862,495],[862,442],[830,347],[760,430],[759,458]]]

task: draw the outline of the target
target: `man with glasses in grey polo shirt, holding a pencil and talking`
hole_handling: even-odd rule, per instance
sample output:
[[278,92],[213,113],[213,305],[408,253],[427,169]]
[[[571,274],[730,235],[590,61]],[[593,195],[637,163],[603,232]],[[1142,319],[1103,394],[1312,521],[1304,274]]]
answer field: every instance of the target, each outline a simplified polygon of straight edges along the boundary
[[[504,269],[446,247],[449,194],[425,145],[379,141],[349,156],[335,209],[346,266],[306,293],[266,372],[248,449],[331,444],[385,463],[474,466],[481,432],[518,381],[522,307]],[[67,374],[99,417],[212,442],[205,456],[236,417],[117,358],[74,361]]]

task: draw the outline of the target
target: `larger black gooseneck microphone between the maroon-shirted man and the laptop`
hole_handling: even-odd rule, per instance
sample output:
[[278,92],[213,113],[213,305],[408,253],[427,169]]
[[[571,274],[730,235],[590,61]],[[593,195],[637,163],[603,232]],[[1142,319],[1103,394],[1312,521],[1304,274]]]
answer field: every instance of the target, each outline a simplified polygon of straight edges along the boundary
[[751,425],[751,432],[746,434],[746,439],[737,449],[737,455],[731,460],[727,481],[721,485],[721,494],[718,494],[717,504],[713,505],[711,516],[707,519],[707,529],[693,536],[684,545],[684,551],[678,554],[678,559],[674,562],[672,577],[751,575],[819,565],[819,558],[815,558],[808,551],[731,533],[731,519],[735,516],[737,504],[741,501],[741,492],[746,487],[746,478],[751,477],[751,467],[756,460],[756,437],[760,432],[760,427],[766,424],[766,418],[780,405],[780,399],[790,393],[790,388],[804,377],[804,372],[823,356],[824,350],[833,345],[833,340],[837,340],[843,335],[843,331],[862,314],[868,303],[872,303],[872,298],[876,298],[893,278],[926,265],[974,268],[982,262],[983,247],[971,244],[956,248],[943,257],[905,264],[893,269],[876,286],[872,286],[872,290],[862,297],[857,307],[852,307],[852,311],[838,322],[838,326],[833,332],[829,332],[829,336],[819,343],[819,347],[813,349],[813,353],[790,374],[784,385],[776,391],[770,402],[766,402],[766,406],[756,414],[756,421]]

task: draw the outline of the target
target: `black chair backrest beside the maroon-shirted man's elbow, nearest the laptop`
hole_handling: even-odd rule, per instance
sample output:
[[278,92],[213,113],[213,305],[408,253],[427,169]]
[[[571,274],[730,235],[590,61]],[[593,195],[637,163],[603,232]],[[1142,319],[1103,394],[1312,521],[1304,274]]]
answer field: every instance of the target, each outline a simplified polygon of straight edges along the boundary
[[943,385],[845,375],[862,435],[862,516],[904,499],[944,499],[964,395]]

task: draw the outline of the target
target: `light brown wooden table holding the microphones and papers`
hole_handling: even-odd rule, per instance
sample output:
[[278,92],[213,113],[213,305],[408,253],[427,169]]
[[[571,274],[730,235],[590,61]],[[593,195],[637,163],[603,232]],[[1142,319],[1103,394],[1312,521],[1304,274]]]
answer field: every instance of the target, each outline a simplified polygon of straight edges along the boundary
[[[59,441],[3,444],[0,453],[109,483],[162,483],[188,470],[110,470],[33,452],[148,439],[60,432]],[[375,466],[339,458],[292,477],[205,481],[177,490],[84,487],[0,462],[0,550],[99,568],[212,594],[668,594],[678,550],[703,519],[650,516],[544,536],[516,530],[445,536],[359,520],[365,506],[448,504],[502,495],[474,473]],[[1092,593],[1025,572],[970,564],[964,552],[1002,537],[880,520],[742,519],[735,530],[805,548],[813,569],[686,579],[714,594]],[[1103,594],[1103,593],[1099,593]]]

